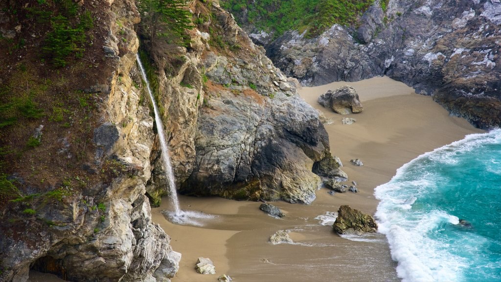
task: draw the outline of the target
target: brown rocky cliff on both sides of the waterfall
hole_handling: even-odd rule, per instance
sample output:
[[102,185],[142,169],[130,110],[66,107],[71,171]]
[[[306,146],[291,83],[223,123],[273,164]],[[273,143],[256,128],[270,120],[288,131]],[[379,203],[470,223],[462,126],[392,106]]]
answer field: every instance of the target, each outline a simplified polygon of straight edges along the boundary
[[139,32],[140,49],[133,1],[3,4],[0,280],[175,275],[180,254],[151,221],[167,184],[138,50],[181,193],[308,204],[321,177],[347,178],[297,81],[217,2],[187,9],[189,44]]

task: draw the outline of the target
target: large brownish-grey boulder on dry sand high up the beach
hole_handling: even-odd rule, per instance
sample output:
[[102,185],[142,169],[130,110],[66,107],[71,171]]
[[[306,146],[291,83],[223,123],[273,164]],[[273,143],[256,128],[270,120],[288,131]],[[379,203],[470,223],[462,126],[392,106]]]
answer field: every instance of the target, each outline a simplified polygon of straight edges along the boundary
[[318,97],[318,102],[326,108],[340,114],[358,113],[364,108],[360,103],[357,91],[351,86],[339,87],[335,91],[328,90]]

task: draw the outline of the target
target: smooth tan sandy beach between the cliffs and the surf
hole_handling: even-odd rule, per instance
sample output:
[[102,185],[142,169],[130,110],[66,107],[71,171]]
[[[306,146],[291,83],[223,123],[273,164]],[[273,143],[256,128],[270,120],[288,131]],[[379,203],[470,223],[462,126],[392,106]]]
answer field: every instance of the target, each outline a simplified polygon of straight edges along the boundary
[[[343,85],[357,90],[363,112],[342,116],[317,103],[318,96],[328,89]],[[257,202],[181,196],[181,209],[214,215],[204,220],[202,227],[166,220],[160,212],[169,209],[170,203],[164,198],[152,214],[153,221],[171,236],[172,248],[182,253],[180,269],[172,281],[215,281],[220,274],[228,274],[235,281],[399,280],[383,235],[342,238],[315,217],[336,212],[343,204],[373,214],[378,204],[374,188],[388,182],[399,167],[481,130],[449,116],[431,97],[415,94],[410,87],[387,77],[304,87],[299,92],[334,121],[325,125],[331,152],[343,162],[349,181],[358,183],[359,193],[329,195],[322,188],[312,205],[272,203],[287,213],[283,219],[264,214]],[[344,125],[343,117],[357,121]],[[350,164],[355,158],[364,166]],[[268,243],[273,233],[284,229],[291,231],[295,244]],[[217,274],[196,273],[194,265],[199,256],[212,259]]]

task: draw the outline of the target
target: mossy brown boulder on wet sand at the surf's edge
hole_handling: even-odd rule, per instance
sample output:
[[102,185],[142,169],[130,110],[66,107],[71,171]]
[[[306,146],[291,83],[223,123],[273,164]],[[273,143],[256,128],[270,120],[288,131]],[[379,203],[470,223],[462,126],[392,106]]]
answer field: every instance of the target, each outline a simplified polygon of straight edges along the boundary
[[358,234],[376,232],[377,223],[374,218],[350,206],[343,205],[338,210],[338,217],[332,225],[338,234]]

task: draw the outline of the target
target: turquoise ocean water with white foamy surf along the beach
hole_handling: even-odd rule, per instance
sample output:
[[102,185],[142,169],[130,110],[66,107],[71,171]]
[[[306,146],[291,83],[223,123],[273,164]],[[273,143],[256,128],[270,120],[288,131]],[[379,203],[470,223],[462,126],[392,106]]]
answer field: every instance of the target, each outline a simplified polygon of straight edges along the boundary
[[501,129],[419,156],[375,195],[403,281],[501,281]]

